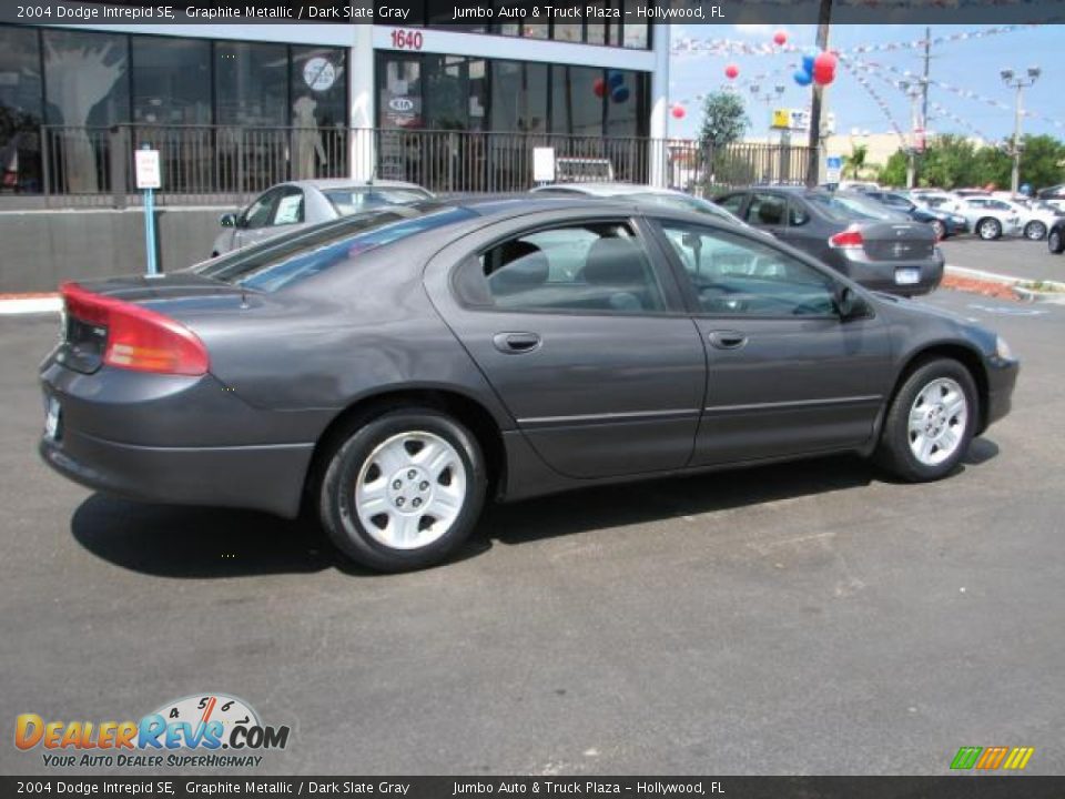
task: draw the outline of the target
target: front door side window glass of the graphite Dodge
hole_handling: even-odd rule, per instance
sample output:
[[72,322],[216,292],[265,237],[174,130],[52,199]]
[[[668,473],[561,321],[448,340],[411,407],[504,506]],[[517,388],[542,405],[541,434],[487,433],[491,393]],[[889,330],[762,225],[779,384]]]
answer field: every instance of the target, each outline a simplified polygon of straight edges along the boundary
[[730,316],[829,316],[832,280],[775,247],[731,233],[661,223],[704,313]]

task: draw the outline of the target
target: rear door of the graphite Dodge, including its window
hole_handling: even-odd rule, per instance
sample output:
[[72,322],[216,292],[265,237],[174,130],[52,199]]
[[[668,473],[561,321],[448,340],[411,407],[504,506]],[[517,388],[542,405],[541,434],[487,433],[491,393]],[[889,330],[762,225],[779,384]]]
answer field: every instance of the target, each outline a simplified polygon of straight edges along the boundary
[[555,471],[681,468],[706,357],[671,269],[636,221],[572,216],[481,234],[438,307]]

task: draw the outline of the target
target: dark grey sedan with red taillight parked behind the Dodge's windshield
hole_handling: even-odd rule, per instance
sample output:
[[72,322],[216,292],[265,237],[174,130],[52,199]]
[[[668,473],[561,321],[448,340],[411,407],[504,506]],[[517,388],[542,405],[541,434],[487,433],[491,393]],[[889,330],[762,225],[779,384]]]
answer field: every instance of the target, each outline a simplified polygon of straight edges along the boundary
[[717,202],[868,289],[913,296],[943,280],[932,229],[862,193],[753,186]]

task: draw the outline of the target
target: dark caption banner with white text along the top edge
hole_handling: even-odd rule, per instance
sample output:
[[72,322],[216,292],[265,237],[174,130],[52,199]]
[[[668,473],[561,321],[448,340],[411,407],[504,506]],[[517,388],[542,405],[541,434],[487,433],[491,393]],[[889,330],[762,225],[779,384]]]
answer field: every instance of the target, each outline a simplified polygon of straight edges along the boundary
[[1065,0],[3,0],[28,24],[393,24],[484,30],[495,22],[732,24],[1045,24]]

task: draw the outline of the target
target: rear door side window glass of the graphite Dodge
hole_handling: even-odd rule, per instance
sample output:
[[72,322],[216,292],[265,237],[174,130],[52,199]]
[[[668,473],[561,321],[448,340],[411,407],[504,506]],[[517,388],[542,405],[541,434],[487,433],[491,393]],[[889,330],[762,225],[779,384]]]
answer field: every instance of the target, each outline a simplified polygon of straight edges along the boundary
[[505,241],[464,264],[457,287],[471,305],[507,311],[666,311],[642,244],[620,222],[552,227]]

